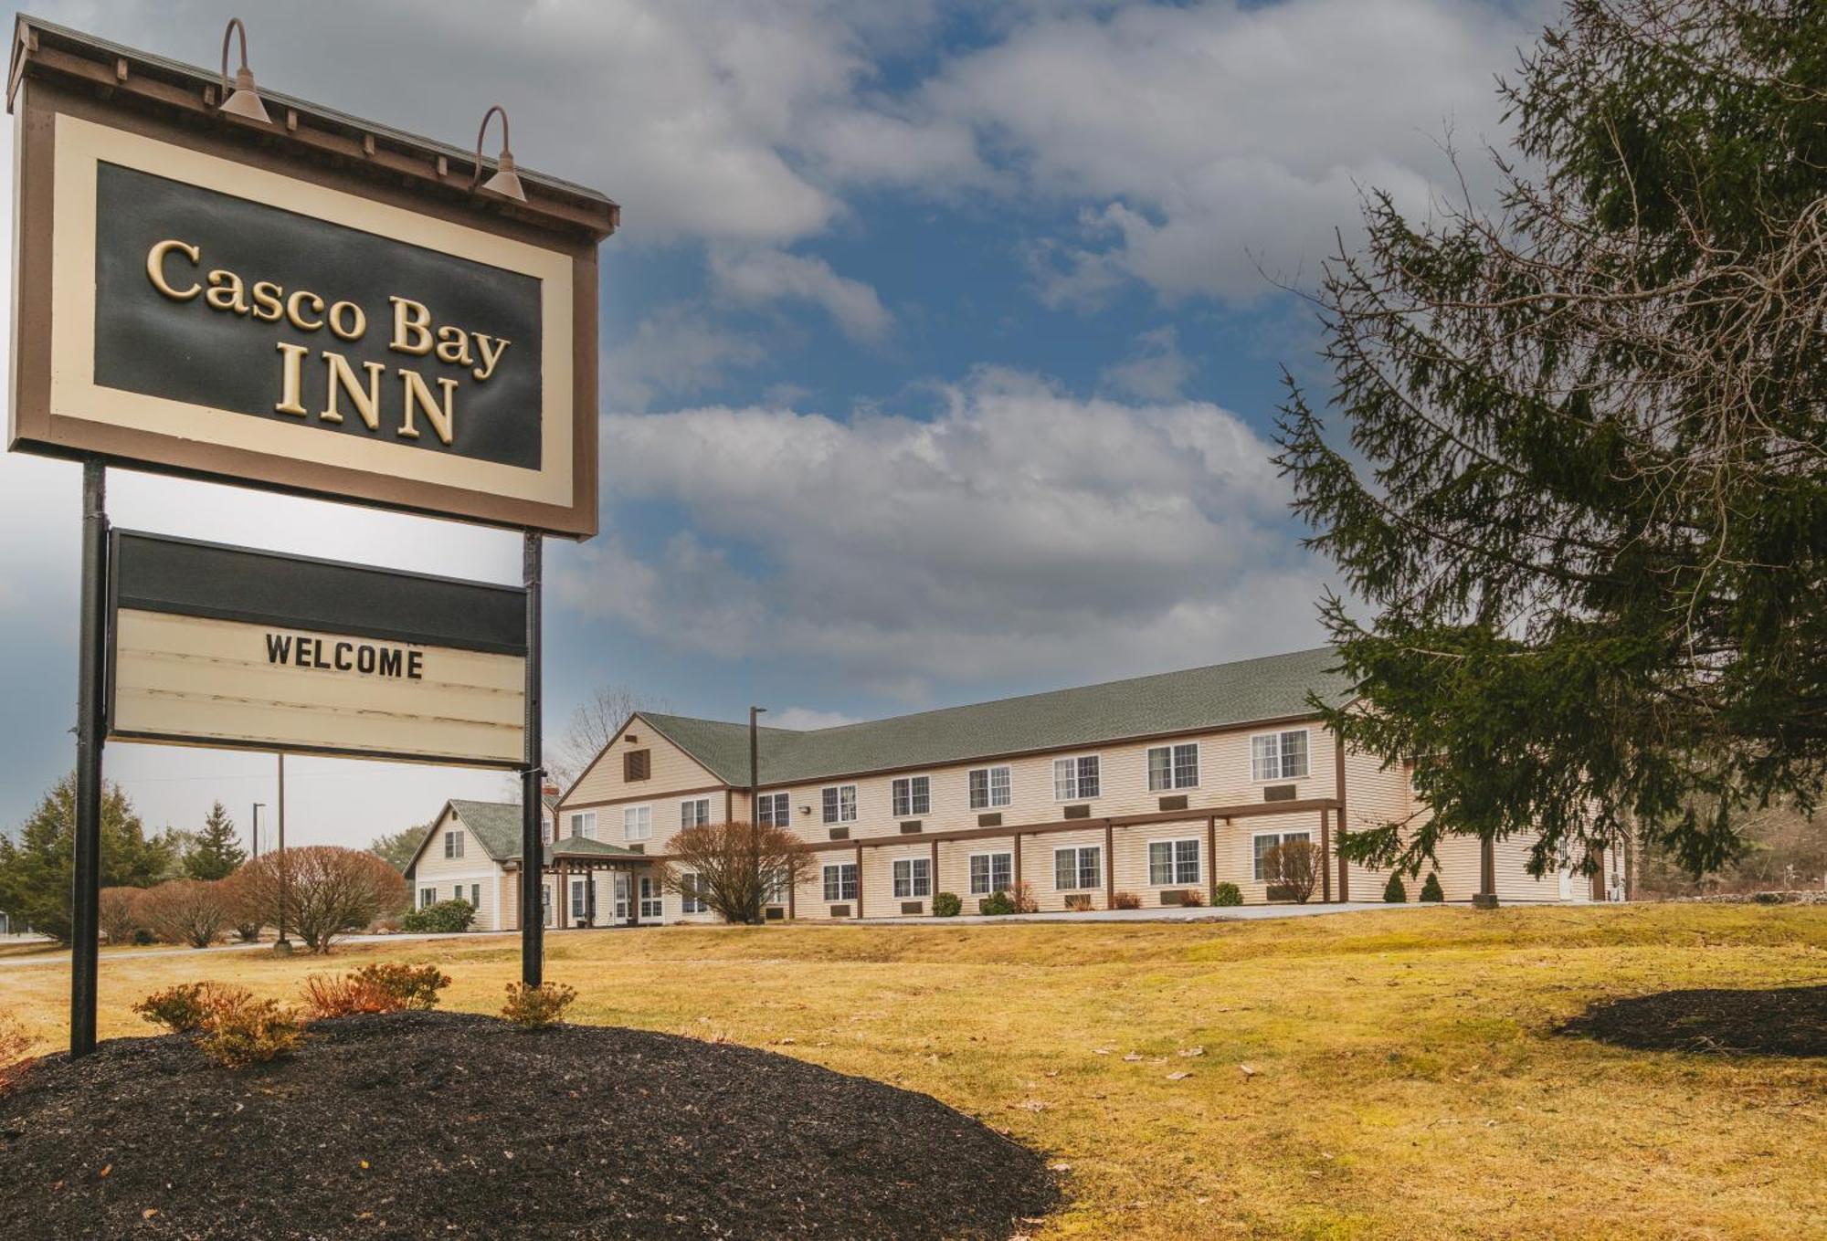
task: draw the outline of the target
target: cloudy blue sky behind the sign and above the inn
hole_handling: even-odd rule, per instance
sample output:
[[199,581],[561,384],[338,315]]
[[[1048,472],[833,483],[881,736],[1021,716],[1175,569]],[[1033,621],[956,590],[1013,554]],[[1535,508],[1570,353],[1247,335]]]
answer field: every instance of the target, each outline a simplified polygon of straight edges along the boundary
[[[1365,188],[1474,193],[1537,0],[37,4],[601,188],[601,531],[546,551],[546,730],[594,686],[778,726],[1315,646],[1270,464]],[[4,144],[11,148],[11,128]],[[11,150],[0,159],[11,179]],[[7,195],[11,197],[11,193]],[[7,259],[0,257],[0,265]],[[0,310],[0,316],[5,312]],[[519,537],[110,471],[117,526],[515,582]],[[73,763],[80,469],[0,456],[0,829]],[[274,759],[110,745],[152,829]],[[289,843],[499,772],[287,759]]]

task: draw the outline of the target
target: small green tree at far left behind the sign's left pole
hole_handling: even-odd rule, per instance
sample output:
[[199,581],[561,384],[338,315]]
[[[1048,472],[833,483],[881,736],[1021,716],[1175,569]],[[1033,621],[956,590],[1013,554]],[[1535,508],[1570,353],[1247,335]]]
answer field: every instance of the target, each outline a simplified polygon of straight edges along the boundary
[[[16,923],[69,942],[69,892],[77,840],[77,777],[44,794],[16,838],[0,836],[0,909]],[[172,863],[170,849],[148,840],[119,785],[102,787],[102,887],[146,887]]]

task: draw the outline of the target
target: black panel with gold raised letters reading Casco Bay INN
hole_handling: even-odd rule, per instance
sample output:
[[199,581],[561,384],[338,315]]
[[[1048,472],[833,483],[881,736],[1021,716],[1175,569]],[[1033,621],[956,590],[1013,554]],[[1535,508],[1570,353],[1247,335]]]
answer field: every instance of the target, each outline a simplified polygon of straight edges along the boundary
[[541,465],[539,281],[97,168],[95,383]]

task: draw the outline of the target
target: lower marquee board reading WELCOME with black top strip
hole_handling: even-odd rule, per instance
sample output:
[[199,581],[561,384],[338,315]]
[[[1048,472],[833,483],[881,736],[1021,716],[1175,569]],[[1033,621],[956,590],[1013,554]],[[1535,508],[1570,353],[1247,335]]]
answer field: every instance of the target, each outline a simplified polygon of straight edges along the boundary
[[108,735],[521,766],[526,591],[115,531]]

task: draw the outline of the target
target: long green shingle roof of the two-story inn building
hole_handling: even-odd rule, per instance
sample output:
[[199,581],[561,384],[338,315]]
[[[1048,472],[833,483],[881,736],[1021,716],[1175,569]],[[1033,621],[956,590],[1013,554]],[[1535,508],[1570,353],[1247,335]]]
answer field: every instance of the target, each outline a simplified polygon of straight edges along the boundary
[[[1025,694],[835,728],[762,728],[760,783],[791,785],[999,754],[1104,745],[1129,737],[1228,728],[1312,712],[1308,694],[1343,704],[1350,683],[1330,646],[1290,655],[1164,672],[1076,690]],[[654,730],[718,779],[749,783],[749,728],[720,719],[641,712]]]

